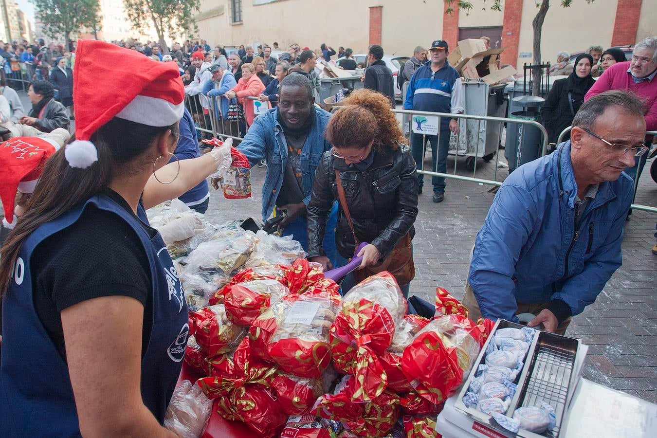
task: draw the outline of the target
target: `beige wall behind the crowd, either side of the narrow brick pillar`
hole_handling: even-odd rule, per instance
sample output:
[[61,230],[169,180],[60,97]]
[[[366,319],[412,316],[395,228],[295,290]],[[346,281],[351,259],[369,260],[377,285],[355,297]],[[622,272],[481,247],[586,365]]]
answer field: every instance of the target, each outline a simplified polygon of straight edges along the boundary
[[[327,43],[336,50],[343,46],[363,53],[369,43],[369,7],[379,5],[384,6],[381,45],[386,54],[412,54],[416,45],[442,35],[442,1],[282,0],[254,6],[252,0],[242,0],[241,25],[229,24],[229,1],[221,3],[224,14],[197,22],[198,34],[213,46],[277,41],[282,49],[291,43],[317,49]],[[201,11],[216,6],[217,0],[201,1]]]

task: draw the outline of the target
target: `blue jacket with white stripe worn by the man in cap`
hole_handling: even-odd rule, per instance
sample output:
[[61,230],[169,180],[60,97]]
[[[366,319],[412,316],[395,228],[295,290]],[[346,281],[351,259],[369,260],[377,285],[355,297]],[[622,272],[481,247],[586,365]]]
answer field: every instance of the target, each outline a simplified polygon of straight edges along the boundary
[[[431,70],[431,62],[420,66],[409,82],[404,101],[405,110],[464,112],[461,77],[448,62],[435,73]],[[449,118],[441,118],[440,129],[449,129]]]

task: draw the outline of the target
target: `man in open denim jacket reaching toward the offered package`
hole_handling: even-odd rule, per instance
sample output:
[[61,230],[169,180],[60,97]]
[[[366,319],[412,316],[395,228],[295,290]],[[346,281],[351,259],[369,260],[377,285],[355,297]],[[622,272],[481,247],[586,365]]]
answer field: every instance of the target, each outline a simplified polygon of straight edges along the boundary
[[[308,249],[306,206],[315,181],[315,169],[331,145],[324,138],[330,113],[314,105],[309,79],[286,76],[279,88],[279,106],[258,116],[237,148],[251,165],[267,160],[262,190],[262,219],[286,213],[283,235],[291,235]],[[213,185],[214,185],[213,181]],[[324,249],[334,266],[342,264],[335,245],[337,204],[330,212]]]

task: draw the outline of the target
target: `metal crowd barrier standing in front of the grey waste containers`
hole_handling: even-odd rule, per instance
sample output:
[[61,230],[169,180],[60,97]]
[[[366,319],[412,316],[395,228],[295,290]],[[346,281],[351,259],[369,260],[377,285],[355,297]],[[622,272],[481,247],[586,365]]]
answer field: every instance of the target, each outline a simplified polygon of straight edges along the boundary
[[[399,109],[392,109],[392,112],[396,114],[402,114],[402,127],[403,127],[403,133],[408,139],[408,144],[411,144],[411,135],[413,133],[413,116],[430,116],[430,117],[438,117],[438,125],[440,126],[440,120],[443,117],[450,118],[450,119],[457,119],[459,120],[459,129],[461,131],[467,130],[468,129],[468,121],[472,121],[472,123],[477,123],[477,129],[476,132],[477,135],[475,135],[476,139],[476,148],[474,150],[474,168],[472,169],[472,177],[467,177],[463,175],[457,175],[457,161],[459,156],[472,156],[471,154],[465,154],[465,153],[460,153],[459,150],[462,150],[461,148],[461,138],[463,137],[464,139],[464,150],[468,150],[468,137],[470,137],[467,134],[466,135],[458,135],[457,141],[456,141],[456,147],[455,147],[455,160],[454,160],[454,173],[440,173],[438,172],[438,169],[433,169],[431,171],[424,170],[424,160],[422,160],[422,165],[421,168],[418,170],[418,173],[422,173],[424,175],[431,175],[431,176],[436,176],[436,177],[443,177],[443,178],[449,178],[449,179],[457,179],[459,181],[468,181],[470,183],[480,183],[480,184],[486,184],[486,185],[492,185],[492,186],[500,186],[502,185],[501,181],[497,181],[497,168],[499,164],[499,146],[500,142],[497,142],[496,145],[496,150],[495,150],[495,170],[493,173],[493,179],[482,179],[477,177],[477,158],[482,156],[480,152],[484,152],[483,150],[480,151],[480,136],[484,135],[486,137],[486,133],[482,132],[482,122],[485,123],[520,123],[522,125],[532,125],[539,129],[541,131],[541,136],[543,139],[543,146],[542,146],[542,153],[541,156],[545,155],[547,153],[547,131],[545,130],[545,127],[541,125],[541,123],[538,123],[537,121],[533,120],[522,120],[522,119],[510,119],[510,118],[503,118],[503,117],[492,117],[492,116],[472,116],[470,114],[449,114],[449,113],[443,113],[443,112],[426,112],[426,111],[415,111],[415,110],[399,110]],[[485,131],[485,129],[484,129]],[[501,132],[501,129],[500,129]],[[438,144],[440,144],[440,129],[438,129]],[[523,142],[523,133],[520,133],[520,147],[522,147],[522,142]],[[423,150],[422,150],[422,156],[426,154],[426,135],[422,135],[422,144],[423,144]]]

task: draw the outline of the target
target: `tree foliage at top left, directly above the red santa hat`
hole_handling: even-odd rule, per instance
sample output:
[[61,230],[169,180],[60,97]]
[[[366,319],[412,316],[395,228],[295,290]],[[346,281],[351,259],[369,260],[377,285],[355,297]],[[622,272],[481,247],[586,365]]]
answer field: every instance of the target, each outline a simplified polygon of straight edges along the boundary
[[93,28],[99,21],[98,0],[32,0],[32,3],[47,35],[53,38],[64,35],[67,50],[71,32]]

